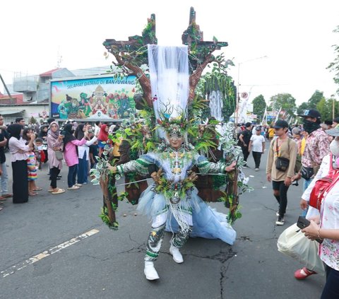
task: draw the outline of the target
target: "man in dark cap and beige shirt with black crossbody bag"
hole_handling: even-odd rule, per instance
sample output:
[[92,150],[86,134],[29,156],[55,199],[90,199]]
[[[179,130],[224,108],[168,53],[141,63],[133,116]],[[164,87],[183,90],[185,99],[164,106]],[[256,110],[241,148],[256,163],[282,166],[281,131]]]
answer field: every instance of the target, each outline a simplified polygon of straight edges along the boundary
[[297,143],[287,136],[288,123],[285,120],[275,122],[273,128],[278,138],[270,143],[266,165],[266,178],[272,181],[273,195],[279,204],[276,225],[284,225],[287,206],[287,190],[295,175]]

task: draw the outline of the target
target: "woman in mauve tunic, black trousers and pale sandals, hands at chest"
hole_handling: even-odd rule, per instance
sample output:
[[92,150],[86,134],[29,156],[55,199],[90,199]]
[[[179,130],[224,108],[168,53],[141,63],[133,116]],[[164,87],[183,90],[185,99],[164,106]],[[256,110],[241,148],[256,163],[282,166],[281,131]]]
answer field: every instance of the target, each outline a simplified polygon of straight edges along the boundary
[[51,122],[49,134],[47,136],[47,151],[49,160],[49,174],[51,175],[51,188],[48,192],[52,194],[61,194],[65,189],[57,187],[57,177],[62,168],[62,160],[58,160],[56,151],[62,151],[62,139],[64,136],[59,134],[59,125],[57,122]]

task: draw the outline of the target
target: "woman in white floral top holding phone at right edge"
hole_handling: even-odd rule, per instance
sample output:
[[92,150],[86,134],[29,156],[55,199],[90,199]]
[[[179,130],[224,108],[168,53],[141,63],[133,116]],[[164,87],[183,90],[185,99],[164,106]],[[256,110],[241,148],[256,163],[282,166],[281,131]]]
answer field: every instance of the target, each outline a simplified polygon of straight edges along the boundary
[[[334,169],[338,169],[339,129],[326,130],[326,133],[335,136],[335,139],[330,144],[332,158],[331,155],[323,158],[314,180],[302,194],[302,200],[300,201],[302,209],[307,209],[309,197],[316,181],[328,175],[331,164]],[[323,288],[321,299],[339,298],[339,209],[337,208],[339,206],[339,180],[333,180],[333,184],[330,187],[331,189],[328,189],[321,202],[320,213],[317,209],[309,206],[306,218],[309,219],[310,224],[302,230],[307,238],[322,240],[321,245],[319,245],[319,257],[326,264],[326,284]],[[316,274],[316,272],[303,267],[295,271],[295,278],[303,280],[312,274]]]

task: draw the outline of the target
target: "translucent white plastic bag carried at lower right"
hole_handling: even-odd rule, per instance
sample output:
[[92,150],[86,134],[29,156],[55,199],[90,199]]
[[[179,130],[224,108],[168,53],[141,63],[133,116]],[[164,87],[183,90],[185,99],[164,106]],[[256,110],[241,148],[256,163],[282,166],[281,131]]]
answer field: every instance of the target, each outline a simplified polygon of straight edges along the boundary
[[283,254],[297,259],[307,269],[316,273],[325,274],[325,264],[321,261],[318,251],[319,243],[305,237],[297,223],[286,228],[278,238],[278,250]]

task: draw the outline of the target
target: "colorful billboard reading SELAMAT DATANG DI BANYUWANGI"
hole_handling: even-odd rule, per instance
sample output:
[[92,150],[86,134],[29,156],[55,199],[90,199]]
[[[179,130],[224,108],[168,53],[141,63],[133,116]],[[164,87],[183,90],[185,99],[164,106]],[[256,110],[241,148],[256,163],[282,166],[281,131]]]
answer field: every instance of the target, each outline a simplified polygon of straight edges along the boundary
[[136,76],[51,81],[51,114],[57,119],[124,119],[135,111]]

